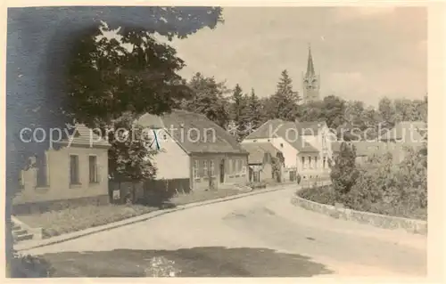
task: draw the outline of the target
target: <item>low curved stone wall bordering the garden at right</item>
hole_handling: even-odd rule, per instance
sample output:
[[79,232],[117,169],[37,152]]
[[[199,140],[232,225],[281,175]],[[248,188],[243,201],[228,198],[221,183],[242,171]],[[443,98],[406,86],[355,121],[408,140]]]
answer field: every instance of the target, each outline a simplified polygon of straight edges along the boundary
[[343,207],[335,207],[332,205],[326,205],[308,199],[303,199],[299,196],[294,196],[293,199],[291,199],[291,203],[294,206],[299,206],[310,211],[334,217],[336,219],[365,223],[383,229],[401,229],[409,233],[427,235],[427,222],[424,220],[409,219],[391,215],[380,215],[371,212],[351,210]]

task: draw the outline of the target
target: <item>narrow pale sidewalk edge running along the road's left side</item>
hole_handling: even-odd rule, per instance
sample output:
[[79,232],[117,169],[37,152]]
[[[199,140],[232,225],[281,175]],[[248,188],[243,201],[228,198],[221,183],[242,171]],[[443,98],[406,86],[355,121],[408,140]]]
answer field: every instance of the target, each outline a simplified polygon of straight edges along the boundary
[[[289,184],[291,185],[291,184]],[[293,184],[298,186],[297,184]],[[107,223],[107,224],[103,224],[103,225],[99,225],[99,226],[95,226],[92,228],[88,228],[82,231],[72,231],[66,234],[62,234],[59,236],[55,236],[53,238],[49,238],[49,239],[39,239],[36,242],[30,241],[27,243],[21,243],[21,244],[17,244],[16,246],[14,246],[14,249],[17,252],[21,252],[21,251],[25,251],[25,250],[29,250],[29,249],[33,249],[33,248],[37,248],[37,247],[46,247],[46,246],[50,246],[50,245],[54,245],[57,243],[61,243],[67,240],[71,240],[71,239],[78,239],[81,237],[85,237],[87,235],[91,235],[94,234],[96,232],[101,232],[101,231],[109,231],[112,229],[116,229],[116,228],[120,228],[122,226],[125,225],[129,225],[129,224],[133,224],[133,223],[139,223],[139,222],[144,222],[147,220],[150,220],[154,217],[158,217],[161,215],[166,215],[172,212],[177,212],[180,210],[185,210],[188,208],[193,208],[193,207],[202,207],[205,205],[210,205],[210,204],[214,204],[214,203],[220,203],[220,202],[225,202],[225,201],[229,201],[229,200],[234,200],[234,199],[243,199],[244,197],[248,197],[248,196],[252,196],[252,195],[258,195],[258,194],[262,194],[262,193],[268,193],[268,192],[272,192],[272,191],[283,191],[283,190],[287,190],[290,189],[290,187],[285,186],[281,186],[281,187],[274,187],[274,188],[270,188],[270,189],[265,189],[265,190],[259,190],[259,191],[249,191],[246,193],[241,193],[241,194],[236,194],[233,196],[229,196],[229,197],[225,197],[225,198],[219,198],[219,199],[210,199],[210,200],[205,200],[205,201],[198,201],[198,202],[194,202],[194,203],[189,203],[186,205],[181,205],[179,207],[175,207],[172,209],[161,209],[161,210],[156,210],[150,213],[147,213],[145,215],[137,215],[134,217],[130,217],[128,219],[124,219],[124,220],[120,220],[117,222],[113,222],[113,223]]]

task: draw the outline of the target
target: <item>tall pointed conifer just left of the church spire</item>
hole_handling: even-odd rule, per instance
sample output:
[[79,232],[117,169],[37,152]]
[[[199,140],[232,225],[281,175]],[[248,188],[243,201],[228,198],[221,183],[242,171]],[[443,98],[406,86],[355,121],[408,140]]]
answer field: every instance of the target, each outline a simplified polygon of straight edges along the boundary
[[299,93],[293,91],[293,80],[285,69],[277,83],[277,91],[271,96],[272,117],[293,121],[298,116]]

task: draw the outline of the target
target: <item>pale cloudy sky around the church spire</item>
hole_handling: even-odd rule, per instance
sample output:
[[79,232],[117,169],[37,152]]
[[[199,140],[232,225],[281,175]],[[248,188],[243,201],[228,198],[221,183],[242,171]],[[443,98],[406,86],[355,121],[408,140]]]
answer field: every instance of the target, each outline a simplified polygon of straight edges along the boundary
[[301,93],[308,46],[320,73],[321,96],[377,105],[384,96],[421,99],[427,93],[427,11],[417,7],[230,7],[224,24],[174,39],[195,72],[275,92],[283,69]]

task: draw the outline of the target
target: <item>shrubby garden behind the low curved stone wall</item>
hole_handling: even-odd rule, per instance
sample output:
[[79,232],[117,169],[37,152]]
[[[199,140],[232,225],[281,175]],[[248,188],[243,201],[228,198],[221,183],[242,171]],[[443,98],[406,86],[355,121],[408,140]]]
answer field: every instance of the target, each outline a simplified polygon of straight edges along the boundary
[[392,154],[374,156],[363,165],[355,161],[354,146],[343,143],[332,185],[307,188],[297,194],[314,202],[381,215],[427,220],[427,150],[406,149],[395,163]]

